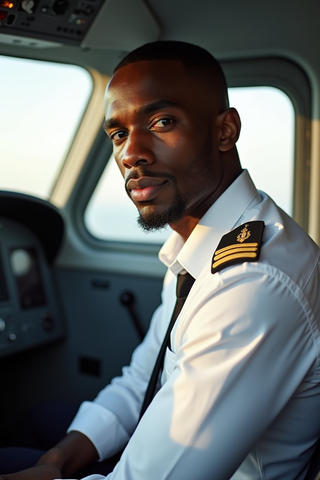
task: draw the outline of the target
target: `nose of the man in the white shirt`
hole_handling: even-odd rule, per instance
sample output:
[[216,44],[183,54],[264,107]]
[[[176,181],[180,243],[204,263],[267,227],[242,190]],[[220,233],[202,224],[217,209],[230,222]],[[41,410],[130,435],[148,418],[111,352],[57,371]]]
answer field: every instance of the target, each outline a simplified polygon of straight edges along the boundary
[[154,163],[154,152],[146,134],[130,133],[126,140],[126,149],[121,158],[125,168],[142,167]]

